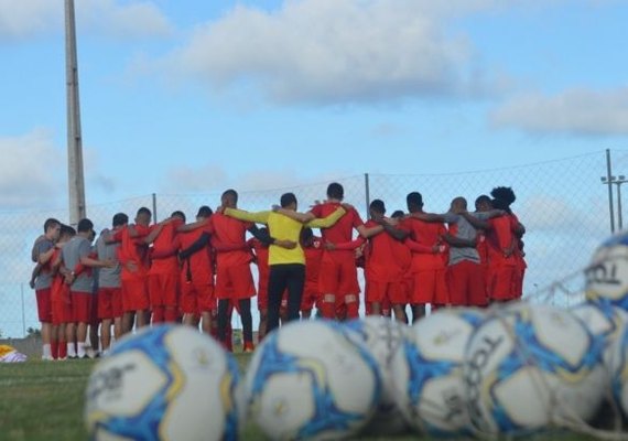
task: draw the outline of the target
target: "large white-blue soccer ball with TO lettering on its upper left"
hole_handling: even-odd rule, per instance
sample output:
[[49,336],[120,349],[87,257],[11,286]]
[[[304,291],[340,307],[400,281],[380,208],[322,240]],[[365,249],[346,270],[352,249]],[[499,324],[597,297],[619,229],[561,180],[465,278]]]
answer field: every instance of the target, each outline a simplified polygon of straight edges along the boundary
[[604,338],[569,311],[517,303],[474,332],[464,365],[467,406],[480,434],[529,434],[588,421],[607,375]]

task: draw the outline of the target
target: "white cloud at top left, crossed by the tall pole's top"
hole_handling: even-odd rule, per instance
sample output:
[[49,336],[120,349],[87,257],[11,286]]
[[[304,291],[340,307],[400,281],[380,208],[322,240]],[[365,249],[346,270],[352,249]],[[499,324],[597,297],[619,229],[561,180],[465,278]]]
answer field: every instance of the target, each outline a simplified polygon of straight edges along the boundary
[[[116,39],[163,36],[172,31],[167,18],[150,1],[75,1],[79,32]],[[62,33],[65,8],[54,0],[0,0],[0,42]]]

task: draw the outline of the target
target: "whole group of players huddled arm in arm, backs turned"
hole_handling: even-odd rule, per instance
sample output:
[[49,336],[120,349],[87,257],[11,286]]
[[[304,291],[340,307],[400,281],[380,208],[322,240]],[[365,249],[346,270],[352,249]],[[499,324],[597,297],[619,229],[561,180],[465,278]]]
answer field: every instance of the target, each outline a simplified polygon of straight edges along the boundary
[[91,347],[107,352],[112,337],[163,322],[201,326],[230,351],[234,310],[243,351],[251,352],[251,298],[257,294],[260,340],[280,323],[308,319],[314,308],[324,319],[356,319],[358,268],[366,313],[405,323],[423,316],[426,305],[518,299],[524,228],[510,209],[510,187],[490,195],[477,197],[474,212],[455,197],[447,213],[432,214],[412,192],[408,213],[390,217],[383,201],[375,200],[364,223],[343,202],[338,183],[306,213],[297,212],[293,193],[268,212],[245,212],[238,193],[227,190],[215,213],[202,206],[192,223],[182,212],[152,225],[145,207],[132,223],[118,213],[94,245],[89,219],[74,229],[48,218],[32,250],[43,359],[87,357],[88,330]]

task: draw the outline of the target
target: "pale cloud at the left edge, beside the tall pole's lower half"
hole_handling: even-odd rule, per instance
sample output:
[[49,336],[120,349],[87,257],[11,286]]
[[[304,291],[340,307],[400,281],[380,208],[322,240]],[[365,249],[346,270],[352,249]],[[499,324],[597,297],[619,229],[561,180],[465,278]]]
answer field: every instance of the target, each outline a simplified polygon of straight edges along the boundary
[[0,138],[0,206],[4,209],[50,206],[64,191],[59,150],[44,130]]

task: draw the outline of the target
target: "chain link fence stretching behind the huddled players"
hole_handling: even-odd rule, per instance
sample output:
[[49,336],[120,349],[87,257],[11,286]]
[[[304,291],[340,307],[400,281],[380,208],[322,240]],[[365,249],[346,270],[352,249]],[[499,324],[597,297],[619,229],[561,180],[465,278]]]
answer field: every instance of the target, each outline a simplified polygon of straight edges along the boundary
[[[473,209],[478,195],[489,194],[498,185],[511,186],[517,194],[512,209],[527,228],[524,295],[569,306],[582,300],[582,269],[595,247],[609,235],[609,203],[615,216],[618,215],[616,196],[621,180],[610,184],[614,197],[609,201],[609,184],[604,184],[600,178],[610,175],[609,164],[617,175],[622,171],[628,174],[628,151],[614,150],[611,155],[607,154],[600,151],[556,161],[463,173],[366,173],[336,181],[345,187],[345,200],[355,205],[365,219],[368,203],[375,198],[385,201],[388,214],[391,214],[396,209],[405,211],[405,195],[418,191],[423,195],[426,212],[444,213],[456,196],[466,197],[469,209]],[[300,211],[306,211],[315,201],[325,197],[327,184],[236,190],[240,193],[239,206],[243,209],[268,209],[279,202],[282,193],[291,191],[300,201]],[[140,206],[151,208],[154,219],[163,219],[175,209],[183,211],[188,219],[193,219],[201,205],[215,208],[220,193],[152,194],[88,205],[87,213],[97,229],[110,226],[117,212],[127,213],[132,219]],[[35,295],[28,284],[34,266],[30,250],[47,217],[65,222],[67,211],[0,213],[0,335],[3,337],[21,337],[29,327],[39,327]],[[619,223],[620,217],[615,225]]]

